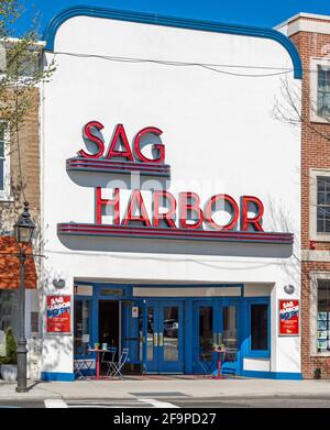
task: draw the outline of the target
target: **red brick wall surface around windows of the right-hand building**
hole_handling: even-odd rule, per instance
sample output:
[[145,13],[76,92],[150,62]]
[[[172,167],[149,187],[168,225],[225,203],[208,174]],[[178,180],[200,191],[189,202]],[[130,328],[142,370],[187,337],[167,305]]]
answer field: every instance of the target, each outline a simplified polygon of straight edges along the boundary
[[[308,19],[307,19],[308,21]],[[310,20],[309,20],[310,21]],[[314,19],[315,21],[315,19]],[[324,22],[324,20],[319,20]],[[330,16],[329,21],[330,23]],[[330,54],[330,35],[299,32],[292,37],[296,44],[304,67],[302,79],[302,126],[301,126],[301,247],[309,250],[309,169],[330,169],[330,124],[310,123],[310,59]],[[329,135],[329,140],[321,136]],[[317,251],[330,251],[329,242],[316,242]],[[330,378],[330,357],[311,355],[310,342],[310,274],[330,272],[329,261],[306,261],[301,264],[301,366],[305,378],[312,378],[314,371],[321,368],[322,377]]]

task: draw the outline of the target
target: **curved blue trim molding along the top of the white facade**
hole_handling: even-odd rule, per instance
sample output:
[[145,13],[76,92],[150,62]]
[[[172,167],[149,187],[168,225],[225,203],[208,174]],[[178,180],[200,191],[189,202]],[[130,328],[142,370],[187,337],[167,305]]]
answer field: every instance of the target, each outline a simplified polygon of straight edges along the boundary
[[43,35],[43,40],[46,41],[46,51],[54,51],[55,35],[59,26],[70,18],[81,15],[136,22],[142,24],[172,26],[177,29],[199,30],[213,33],[226,33],[251,37],[270,38],[279,43],[289,54],[294,65],[295,78],[302,78],[302,65],[298,49],[287,36],[276,30],[248,25],[222,24],[212,21],[200,21],[193,19],[158,15],[155,13],[131,12],[124,10],[95,8],[86,5],[76,5],[67,8],[52,19]]

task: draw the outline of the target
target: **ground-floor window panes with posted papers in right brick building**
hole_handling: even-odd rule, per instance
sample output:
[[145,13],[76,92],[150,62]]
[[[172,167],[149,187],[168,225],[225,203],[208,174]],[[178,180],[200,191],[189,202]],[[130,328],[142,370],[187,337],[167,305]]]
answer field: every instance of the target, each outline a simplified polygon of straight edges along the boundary
[[330,351],[330,280],[318,279],[317,351]]

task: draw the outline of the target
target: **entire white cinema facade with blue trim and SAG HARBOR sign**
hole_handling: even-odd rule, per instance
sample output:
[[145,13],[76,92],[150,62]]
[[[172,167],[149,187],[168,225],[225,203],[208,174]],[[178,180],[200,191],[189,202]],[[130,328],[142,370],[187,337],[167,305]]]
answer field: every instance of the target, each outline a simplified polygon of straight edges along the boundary
[[205,373],[224,345],[223,373],[301,378],[300,136],[273,114],[293,43],[81,7],[44,38],[41,377],[107,343],[128,372]]

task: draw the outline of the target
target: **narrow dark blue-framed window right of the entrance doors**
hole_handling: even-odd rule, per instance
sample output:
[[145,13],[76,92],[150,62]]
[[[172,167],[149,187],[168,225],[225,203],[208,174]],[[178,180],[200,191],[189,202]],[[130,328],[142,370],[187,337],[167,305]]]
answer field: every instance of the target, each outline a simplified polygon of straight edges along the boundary
[[268,351],[268,305],[252,304],[250,321],[251,351]]

